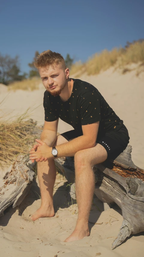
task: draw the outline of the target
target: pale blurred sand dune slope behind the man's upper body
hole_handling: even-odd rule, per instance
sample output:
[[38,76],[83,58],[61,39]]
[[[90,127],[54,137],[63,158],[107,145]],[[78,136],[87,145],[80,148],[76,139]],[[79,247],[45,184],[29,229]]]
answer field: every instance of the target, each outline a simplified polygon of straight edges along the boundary
[[[139,77],[135,76],[135,71],[122,75],[119,71],[110,68],[97,76],[82,75],[79,79],[88,81],[97,87],[110,107],[124,121],[129,131],[130,144],[133,147],[132,160],[135,165],[144,168],[144,73],[141,73]],[[20,115],[30,107],[31,117],[38,121],[38,125],[43,125],[45,88],[43,84],[39,88],[32,92],[17,90],[0,93],[0,102],[5,97],[0,105],[0,116],[10,113],[9,117],[12,120],[14,115]],[[59,133],[72,129],[72,126],[59,119]]]

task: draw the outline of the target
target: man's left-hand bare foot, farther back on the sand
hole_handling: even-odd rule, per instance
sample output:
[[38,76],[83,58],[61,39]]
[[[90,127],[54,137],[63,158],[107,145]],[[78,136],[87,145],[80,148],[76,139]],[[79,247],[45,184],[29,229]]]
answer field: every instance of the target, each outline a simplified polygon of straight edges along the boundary
[[53,217],[55,215],[53,206],[49,208],[40,207],[31,217],[32,221],[37,220],[38,218]]

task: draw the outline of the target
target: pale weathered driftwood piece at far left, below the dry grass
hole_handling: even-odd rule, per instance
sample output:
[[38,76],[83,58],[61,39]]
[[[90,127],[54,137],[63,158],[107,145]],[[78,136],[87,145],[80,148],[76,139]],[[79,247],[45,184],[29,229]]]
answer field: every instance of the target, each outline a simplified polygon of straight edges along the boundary
[[4,210],[10,205],[13,204],[13,208],[19,206],[28,194],[36,167],[35,162],[30,163],[28,156],[18,155],[5,174],[0,188],[0,216],[4,215]]

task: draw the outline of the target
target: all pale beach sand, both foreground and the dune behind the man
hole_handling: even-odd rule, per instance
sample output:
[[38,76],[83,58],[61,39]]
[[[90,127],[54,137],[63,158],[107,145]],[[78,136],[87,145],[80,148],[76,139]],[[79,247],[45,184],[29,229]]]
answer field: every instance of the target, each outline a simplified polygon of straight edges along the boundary
[[[132,71],[121,75],[110,68],[98,76],[82,75],[79,78],[96,86],[124,121],[133,147],[132,160],[137,166],[144,168],[144,74],[136,77],[135,72]],[[4,97],[5,99],[0,105],[0,116],[9,117],[11,121],[14,118],[13,115],[22,114],[30,107],[31,110],[33,109],[31,118],[38,121],[38,125],[44,124],[44,86],[40,85],[40,89],[33,92],[22,90],[7,92],[7,89],[3,88],[4,90],[0,90],[0,102]],[[8,116],[7,113],[9,113]],[[73,128],[70,125],[59,119],[59,133],[71,129]],[[0,177],[2,178],[4,174],[5,171],[1,171]],[[32,190],[19,208],[9,207],[4,212],[4,216],[0,218],[1,257],[54,257],[55,255],[88,257],[96,256],[96,253],[101,253],[104,257],[143,256],[144,233],[130,236],[125,243],[111,250],[111,244],[122,224],[122,212],[117,205],[104,211],[102,202],[96,196],[94,203],[101,211],[92,205],[89,221],[103,223],[101,225],[89,223],[91,229],[89,237],[64,243],[63,241],[72,233],[77,219],[77,205],[75,203],[72,205],[66,186],[66,179],[57,174],[54,188],[56,214],[52,218],[40,218],[35,222],[29,219],[29,215],[32,215],[41,205],[41,199],[38,196],[40,194],[38,179],[33,183]]]

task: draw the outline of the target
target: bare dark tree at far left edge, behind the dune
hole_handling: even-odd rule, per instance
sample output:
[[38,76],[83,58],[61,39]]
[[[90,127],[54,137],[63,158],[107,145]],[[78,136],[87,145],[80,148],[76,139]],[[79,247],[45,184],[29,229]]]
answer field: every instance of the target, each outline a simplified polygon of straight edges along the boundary
[[11,58],[10,55],[2,56],[0,53],[0,83],[8,85],[16,80],[23,80],[27,74],[21,72],[19,69],[19,56]]

